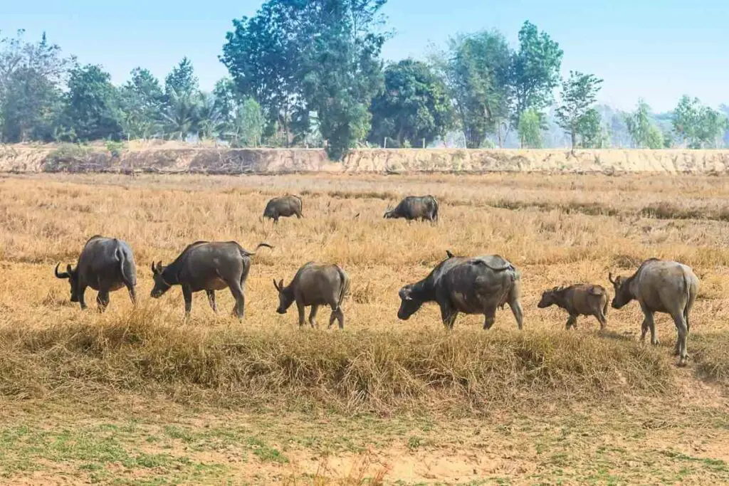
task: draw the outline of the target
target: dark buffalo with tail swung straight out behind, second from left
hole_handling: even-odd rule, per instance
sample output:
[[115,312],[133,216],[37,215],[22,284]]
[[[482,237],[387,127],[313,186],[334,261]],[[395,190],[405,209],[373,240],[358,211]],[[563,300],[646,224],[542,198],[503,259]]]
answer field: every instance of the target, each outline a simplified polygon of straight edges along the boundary
[[[262,246],[273,248],[267,243],[260,243],[256,250]],[[235,298],[233,313],[242,319],[243,307],[246,305],[243,286],[254,254],[255,251],[246,251],[235,241],[196,241],[166,267],[162,266],[162,262],[157,262],[156,266],[152,263],[152,275],[155,278],[152,297],[161,297],[171,286],[182,286],[184,313],[187,317],[192,309],[193,292],[206,291],[211,309],[217,312],[215,291],[227,287]]]

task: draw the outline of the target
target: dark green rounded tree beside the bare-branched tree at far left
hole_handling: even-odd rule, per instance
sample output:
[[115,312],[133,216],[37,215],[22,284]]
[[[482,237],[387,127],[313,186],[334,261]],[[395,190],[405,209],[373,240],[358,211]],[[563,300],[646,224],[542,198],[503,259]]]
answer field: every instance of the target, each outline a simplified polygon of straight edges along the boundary
[[64,96],[63,119],[81,140],[122,136],[119,93],[111,75],[101,66],[88,64],[71,69]]

